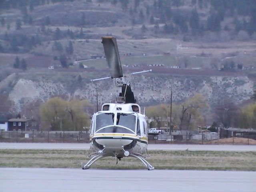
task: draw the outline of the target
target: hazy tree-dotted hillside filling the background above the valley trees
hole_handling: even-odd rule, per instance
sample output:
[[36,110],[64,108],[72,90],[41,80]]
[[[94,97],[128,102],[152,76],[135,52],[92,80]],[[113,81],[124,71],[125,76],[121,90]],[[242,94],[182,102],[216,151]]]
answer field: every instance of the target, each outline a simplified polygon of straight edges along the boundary
[[111,81],[89,80],[108,76],[100,41],[111,35],[124,72],[154,71],[132,79],[140,103],[169,102],[171,84],[174,102],[199,92],[211,106],[241,103],[256,77],[255,7],[255,0],[1,1],[0,94],[17,112],[58,95],[95,103],[96,88],[100,102],[110,100]]

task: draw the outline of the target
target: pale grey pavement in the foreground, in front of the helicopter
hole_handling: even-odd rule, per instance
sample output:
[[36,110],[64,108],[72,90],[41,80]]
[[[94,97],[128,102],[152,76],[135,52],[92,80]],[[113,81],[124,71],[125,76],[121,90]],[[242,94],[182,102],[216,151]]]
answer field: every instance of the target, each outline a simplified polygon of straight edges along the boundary
[[1,192],[255,192],[256,172],[0,168]]

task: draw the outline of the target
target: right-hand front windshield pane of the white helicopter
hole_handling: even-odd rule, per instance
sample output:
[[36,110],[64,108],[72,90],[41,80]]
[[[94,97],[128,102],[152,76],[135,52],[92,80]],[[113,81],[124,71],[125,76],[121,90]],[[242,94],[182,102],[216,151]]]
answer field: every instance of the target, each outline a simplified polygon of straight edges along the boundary
[[116,126],[124,126],[135,132],[136,117],[132,114],[118,113]]

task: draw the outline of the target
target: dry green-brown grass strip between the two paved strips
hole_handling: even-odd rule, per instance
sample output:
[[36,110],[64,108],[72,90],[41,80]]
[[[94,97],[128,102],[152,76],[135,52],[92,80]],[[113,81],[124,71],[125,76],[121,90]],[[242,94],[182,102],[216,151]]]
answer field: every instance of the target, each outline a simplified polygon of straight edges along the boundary
[[[86,150],[0,150],[0,167],[80,168]],[[256,152],[150,151],[156,169],[256,171]],[[113,157],[96,161],[92,168],[143,169],[136,158]]]

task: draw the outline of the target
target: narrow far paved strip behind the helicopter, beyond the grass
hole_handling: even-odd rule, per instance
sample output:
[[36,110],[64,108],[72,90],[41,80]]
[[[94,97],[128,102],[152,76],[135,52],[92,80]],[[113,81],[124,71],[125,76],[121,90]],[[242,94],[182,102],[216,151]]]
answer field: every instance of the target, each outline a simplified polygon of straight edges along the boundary
[[[0,149],[89,150],[88,143],[0,143]],[[256,151],[255,145],[149,144],[148,150]]]

